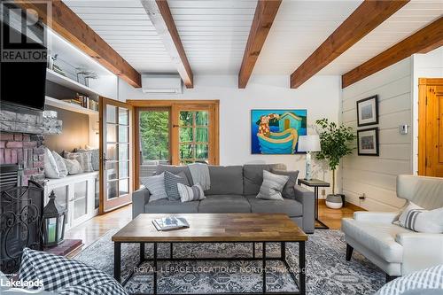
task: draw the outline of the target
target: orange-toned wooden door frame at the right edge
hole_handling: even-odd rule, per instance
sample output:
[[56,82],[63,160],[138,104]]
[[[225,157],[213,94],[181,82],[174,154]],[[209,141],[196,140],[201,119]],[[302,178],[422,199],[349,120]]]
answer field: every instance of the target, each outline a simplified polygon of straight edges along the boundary
[[418,78],[418,175],[426,175],[426,105],[428,86],[443,86],[443,79]]

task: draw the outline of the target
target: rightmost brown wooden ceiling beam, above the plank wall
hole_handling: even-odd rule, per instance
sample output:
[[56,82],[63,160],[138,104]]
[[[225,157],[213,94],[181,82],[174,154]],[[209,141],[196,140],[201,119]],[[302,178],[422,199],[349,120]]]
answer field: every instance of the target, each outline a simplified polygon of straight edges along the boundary
[[375,74],[387,66],[392,66],[415,53],[429,52],[443,45],[442,28],[443,17],[440,17],[430,25],[416,32],[416,34],[408,36],[408,38],[393,45],[376,57],[370,58],[361,64],[361,66],[357,66],[354,70],[341,76],[342,88],[346,88],[371,74]]

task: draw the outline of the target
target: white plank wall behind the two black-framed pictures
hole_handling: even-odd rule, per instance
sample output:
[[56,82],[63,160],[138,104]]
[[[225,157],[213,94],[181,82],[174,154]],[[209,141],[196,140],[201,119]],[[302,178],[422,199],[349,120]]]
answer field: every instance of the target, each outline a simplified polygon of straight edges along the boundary
[[[393,211],[404,204],[396,197],[396,176],[412,174],[412,129],[406,136],[399,133],[399,125],[412,126],[411,75],[411,58],[406,58],[343,89],[342,121],[354,129],[356,101],[378,95],[380,156],[357,156],[354,151],[342,163],[346,200],[366,210]],[[364,200],[359,199],[362,193]]]

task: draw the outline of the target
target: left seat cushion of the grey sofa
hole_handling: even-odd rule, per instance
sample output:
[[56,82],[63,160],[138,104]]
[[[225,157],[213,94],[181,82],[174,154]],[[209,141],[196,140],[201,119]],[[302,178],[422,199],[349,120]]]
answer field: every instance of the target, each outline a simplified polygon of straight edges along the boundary
[[182,203],[180,199],[162,198],[144,206],[144,213],[198,213],[198,202]]

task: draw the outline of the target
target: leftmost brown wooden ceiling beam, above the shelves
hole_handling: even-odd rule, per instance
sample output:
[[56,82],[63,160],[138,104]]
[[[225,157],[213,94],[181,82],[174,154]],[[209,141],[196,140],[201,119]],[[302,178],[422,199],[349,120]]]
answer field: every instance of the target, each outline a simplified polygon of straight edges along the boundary
[[51,1],[51,15],[48,15],[46,3],[18,0],[16,4],[22,9],[35,10],[39,19],[58,35],[64,37],[130,85],[136,88],[142,87],[141,76],[136,69],[130,66],[124,58],[121,58],[117,51],[105,43],[105,40],[62,1]]

